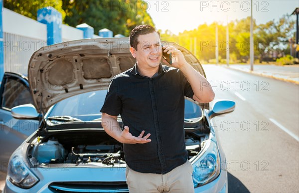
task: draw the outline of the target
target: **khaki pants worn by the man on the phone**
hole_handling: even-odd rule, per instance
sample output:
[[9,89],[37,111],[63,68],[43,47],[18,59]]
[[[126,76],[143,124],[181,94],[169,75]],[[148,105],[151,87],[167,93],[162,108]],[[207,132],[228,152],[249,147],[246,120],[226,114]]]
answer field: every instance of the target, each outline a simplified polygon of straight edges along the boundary
[[164,175],[139,173],[127,166],[126,178],[130,193],[194,193],[192,172],[187,160]]

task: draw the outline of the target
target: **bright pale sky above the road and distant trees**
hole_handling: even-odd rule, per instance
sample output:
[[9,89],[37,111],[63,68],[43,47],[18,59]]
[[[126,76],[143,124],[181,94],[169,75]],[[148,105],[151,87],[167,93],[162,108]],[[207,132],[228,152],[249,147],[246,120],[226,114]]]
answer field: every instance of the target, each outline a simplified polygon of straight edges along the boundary
[[[203,23],[222,24],[251,15],[251,0],[147,0],[147,11],[156,29],[174,34],[192,30]],[[257,24],[278,20],[299,7],[299,0],[253,0]],[[296,15],[290,19],[296,20]]]

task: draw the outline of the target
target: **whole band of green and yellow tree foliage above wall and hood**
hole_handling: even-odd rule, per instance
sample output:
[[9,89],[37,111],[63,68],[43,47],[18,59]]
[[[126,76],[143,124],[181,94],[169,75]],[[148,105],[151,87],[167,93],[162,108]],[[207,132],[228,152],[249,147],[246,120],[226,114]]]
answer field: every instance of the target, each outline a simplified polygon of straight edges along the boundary
[[87,23],[95,33],[108,28],[114,34],[128,36],[140,24],[154,23],[143,0],[4,0],[4,7],[36,20],[39,8],[52,6],[62,14],[65,24],[76,27]]

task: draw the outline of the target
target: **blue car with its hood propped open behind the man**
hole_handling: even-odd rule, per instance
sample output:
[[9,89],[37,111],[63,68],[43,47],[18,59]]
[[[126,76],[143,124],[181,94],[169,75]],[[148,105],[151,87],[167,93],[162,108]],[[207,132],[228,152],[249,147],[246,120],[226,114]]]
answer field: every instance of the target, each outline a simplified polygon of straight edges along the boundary
[[[190,51],[166,43],[180,49],[187,62],[205,76]],[[111,78],[136,62],[129,45],[128,37],[54,44],[32,55],[28,79],[5,74],[1,159],[16,150],[7,166],[1,166],[7,168],[4,193],[128,192],[123,144],[104,131],[100,109]],[[12,80],[21,86],[8,88]],[[195,192],[228,190],[227,171],[222,169],[225,155],[210,121],[234,109],[231,100],[216,101],[210,108],[209,103],[185,98],[185,145]],[[118,123],[123,127],[121,117]],[[2,149],[2,136],[6,138],[3,144],[11,146],[7,151]]]

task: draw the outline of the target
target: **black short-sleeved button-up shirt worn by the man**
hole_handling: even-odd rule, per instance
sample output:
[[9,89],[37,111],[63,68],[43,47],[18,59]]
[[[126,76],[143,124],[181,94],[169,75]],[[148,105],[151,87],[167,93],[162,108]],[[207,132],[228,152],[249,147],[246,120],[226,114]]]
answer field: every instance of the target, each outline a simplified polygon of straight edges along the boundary
[[142,130],[150,133],[149,143],[124,144],[126,163],[132,170],[166,174],[187,161],[184,96],[192,98],[193,94],[178,68],[161,64],[151,78],[139,74],[137,63],[112,78],[101,112],[121,114],[133,136]]

